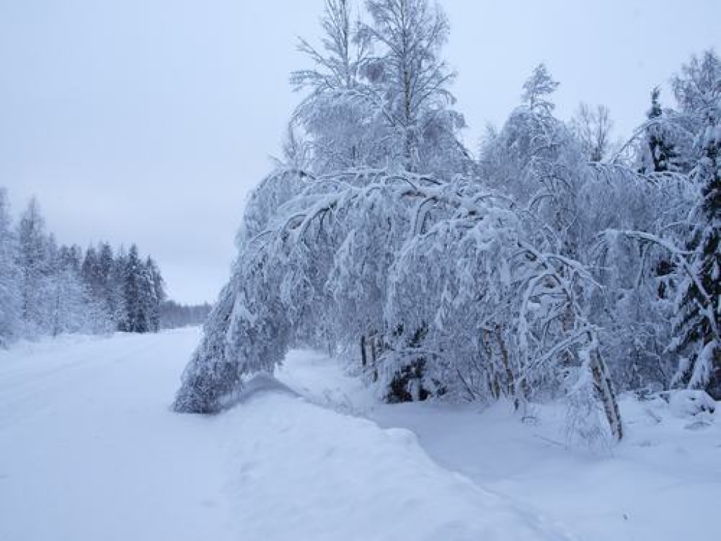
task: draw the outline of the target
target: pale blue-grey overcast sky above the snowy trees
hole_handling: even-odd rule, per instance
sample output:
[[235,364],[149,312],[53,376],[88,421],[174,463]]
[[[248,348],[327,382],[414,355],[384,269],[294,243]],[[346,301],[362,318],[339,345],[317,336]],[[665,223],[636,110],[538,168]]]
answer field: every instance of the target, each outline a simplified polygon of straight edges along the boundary
[[[541,61],[625,137],[691,53],[721,47],[718,0],[440,2],[475,147]],[[0,185],[61,242],[137,242],[170,295],[213,300],[245,195],[278,153],[322,0],[0,0]],[[673,28],[673,30],[664,30]],[[662,94],[668,100],[668,92]],[[668,102],[668,101],[667,101]]]

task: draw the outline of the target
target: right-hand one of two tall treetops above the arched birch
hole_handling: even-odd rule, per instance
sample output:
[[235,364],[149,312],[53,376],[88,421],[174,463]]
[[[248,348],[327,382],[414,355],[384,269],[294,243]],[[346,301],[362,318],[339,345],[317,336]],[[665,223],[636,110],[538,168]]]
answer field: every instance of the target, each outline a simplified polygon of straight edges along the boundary
[[[441,56],[448,19],[428,0],[368,0],[371,21],[359,38],[372,48],[364,74],[389,129],[386,161],[407,170],[446,172],[467,157],[457,132],[465,123],[451,109],[455,74]],[[443,167],[433,163],[442,159]],[[453,167],[451,166],[451,170]]]

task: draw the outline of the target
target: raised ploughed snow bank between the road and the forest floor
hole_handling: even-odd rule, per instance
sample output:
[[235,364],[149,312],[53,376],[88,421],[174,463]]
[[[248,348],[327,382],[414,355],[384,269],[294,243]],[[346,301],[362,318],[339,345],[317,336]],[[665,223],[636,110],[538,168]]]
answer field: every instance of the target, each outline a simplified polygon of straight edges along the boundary
[[226,414],[244,540],[560,540],[540,516],[438,467],[412,432],[254,394]]

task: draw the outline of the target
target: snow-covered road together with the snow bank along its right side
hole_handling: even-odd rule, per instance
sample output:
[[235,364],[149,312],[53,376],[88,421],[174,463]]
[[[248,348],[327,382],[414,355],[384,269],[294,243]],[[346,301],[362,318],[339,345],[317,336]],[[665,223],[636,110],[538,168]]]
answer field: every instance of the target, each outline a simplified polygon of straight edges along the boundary
[[260,390],[215,417],[171,413],[198,338],[0,352],[0,540],[565,538],[436,465],[409,431],[293,392]]

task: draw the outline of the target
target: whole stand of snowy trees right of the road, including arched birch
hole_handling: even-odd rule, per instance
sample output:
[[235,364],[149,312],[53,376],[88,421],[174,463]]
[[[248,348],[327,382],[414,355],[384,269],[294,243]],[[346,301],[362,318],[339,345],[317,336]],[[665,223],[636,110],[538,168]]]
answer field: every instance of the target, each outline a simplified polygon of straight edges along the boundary
[[[525,415],[564,400],[583,439],[621,438],[614,387],[667,389],[679,352],[676,380],[716,392],[713,56],[684,68],[676,109],[655,95],[614,157],[608,111],[554,117],[558,83],[541,64],[472,162],[442,12],[366,9],[354,25],[348,2],[329,0],[322,46],[301,43],[313,65],[292,77],[307,94],[285,159],[249,199],[175,410],[226,407],[301,345],[358,359],[389,401],[505,398]],[[629,149],[644,167],[619,159]]]

